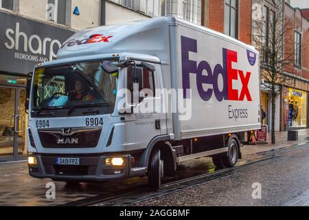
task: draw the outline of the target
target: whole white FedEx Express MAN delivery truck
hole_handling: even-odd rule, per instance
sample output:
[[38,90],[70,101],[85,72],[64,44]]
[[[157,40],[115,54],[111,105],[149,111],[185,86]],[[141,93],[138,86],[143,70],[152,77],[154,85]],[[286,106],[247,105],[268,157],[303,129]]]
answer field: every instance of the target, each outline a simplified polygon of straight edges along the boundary
[[212,157],[235,166],[260,129],[259,53],[174,17],[91,28],[39,63],[29,78],[32,177],[107,181]]

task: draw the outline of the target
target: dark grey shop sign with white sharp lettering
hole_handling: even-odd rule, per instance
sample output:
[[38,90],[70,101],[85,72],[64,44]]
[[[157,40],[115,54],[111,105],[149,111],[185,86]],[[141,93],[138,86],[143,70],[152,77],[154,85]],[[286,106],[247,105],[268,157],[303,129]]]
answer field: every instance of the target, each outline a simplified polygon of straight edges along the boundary
[[36,63],[52,61],[73,31],[0,12],[0,71],[32,72]]

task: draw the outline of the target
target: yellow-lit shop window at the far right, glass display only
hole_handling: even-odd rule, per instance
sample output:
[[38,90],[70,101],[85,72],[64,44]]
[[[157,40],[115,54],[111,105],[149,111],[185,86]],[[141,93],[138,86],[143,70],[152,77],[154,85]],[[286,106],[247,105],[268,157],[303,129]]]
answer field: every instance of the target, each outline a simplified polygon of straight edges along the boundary
[[307,126],[307,92],[288,89],[288,127]]

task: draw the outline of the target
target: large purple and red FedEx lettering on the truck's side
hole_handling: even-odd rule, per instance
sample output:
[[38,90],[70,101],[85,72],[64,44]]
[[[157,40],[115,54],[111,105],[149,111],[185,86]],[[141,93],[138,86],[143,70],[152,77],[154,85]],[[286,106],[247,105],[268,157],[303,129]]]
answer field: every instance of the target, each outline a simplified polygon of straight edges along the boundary
[[[207,61],[191,61],[189,53],[198,52],[197,41],[194,39],[181,36],[181,58],[183,71],[183,98],[187,98],[186,89],[190,89],[190,74],[196,74],[196,87],[198,94],[204,101],[211,99],[214,94],[216,99],[243,101],[247,98],[252,101],[251,94],[248,88],[251,72],[244,72],[240,69],[233,69],[232,64],[238,62],[238,53],[232,50],[222,49],[222,65],[217,64],[214,69],[211,69]],[[203,75],[206,71],[207,75]],[[223,79],[223,88],[219,89],[219,75]],[[233,82],[239,81],[242,83],[242,89],[233,89]],[[212,89],[205,90],[203,84],[212,85]]]

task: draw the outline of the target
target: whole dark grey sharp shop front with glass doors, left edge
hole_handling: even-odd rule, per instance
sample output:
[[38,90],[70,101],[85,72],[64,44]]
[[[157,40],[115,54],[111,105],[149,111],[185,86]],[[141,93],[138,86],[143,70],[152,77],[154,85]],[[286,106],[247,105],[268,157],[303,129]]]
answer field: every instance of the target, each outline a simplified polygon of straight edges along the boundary
[[27,74],[51,61],[74,32],[0,11],[0,162],[27,154]]

